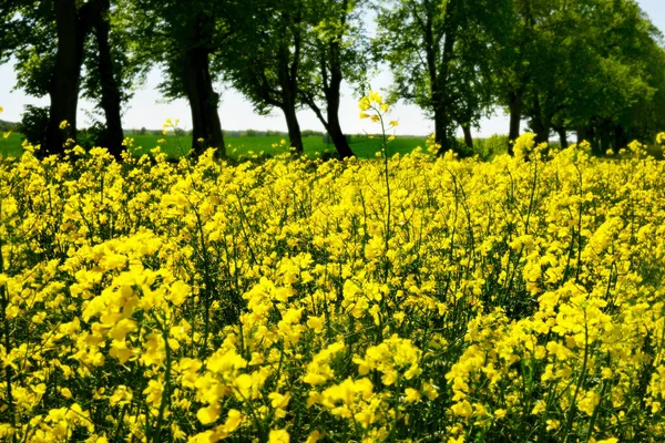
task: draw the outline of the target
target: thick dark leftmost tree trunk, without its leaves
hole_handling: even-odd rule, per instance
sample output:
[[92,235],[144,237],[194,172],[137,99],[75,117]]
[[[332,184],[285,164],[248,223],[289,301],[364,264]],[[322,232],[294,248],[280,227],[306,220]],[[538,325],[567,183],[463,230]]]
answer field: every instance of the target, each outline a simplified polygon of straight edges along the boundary
[[[76,109],[79,104],[79,80],[83,62],[83,41],[76,2],[54,0],[58,52],[49,84],[51,107],[44,141],[44,154],[61,154],[64,142],[76,135]],[[66,121],[69,127],[61,130]]]

